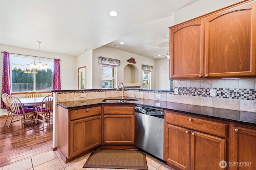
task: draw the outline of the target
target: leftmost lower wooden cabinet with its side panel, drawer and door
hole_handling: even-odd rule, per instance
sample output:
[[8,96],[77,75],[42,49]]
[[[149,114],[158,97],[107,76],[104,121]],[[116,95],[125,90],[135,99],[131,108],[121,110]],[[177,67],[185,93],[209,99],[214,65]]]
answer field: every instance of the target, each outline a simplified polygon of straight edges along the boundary
[[82,109],[58,106],[57,150],[65,163],[100,147],[101,120],[101,105]]

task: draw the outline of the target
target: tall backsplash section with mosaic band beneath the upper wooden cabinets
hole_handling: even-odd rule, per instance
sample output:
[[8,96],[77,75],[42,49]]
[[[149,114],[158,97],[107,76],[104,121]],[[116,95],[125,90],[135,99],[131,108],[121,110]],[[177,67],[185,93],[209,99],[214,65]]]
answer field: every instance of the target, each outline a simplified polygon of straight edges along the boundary
[[[256,112],[256,79],[181,80],[174,88],[177,103]],[[210,97],[210,89],[216,89],[216,97]]]

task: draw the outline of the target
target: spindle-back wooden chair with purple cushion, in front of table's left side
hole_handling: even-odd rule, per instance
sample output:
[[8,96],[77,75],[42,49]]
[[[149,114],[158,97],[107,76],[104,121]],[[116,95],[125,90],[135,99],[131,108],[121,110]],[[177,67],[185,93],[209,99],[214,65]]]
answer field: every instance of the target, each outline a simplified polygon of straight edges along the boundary
[[10,125],[14,122],[12,121],[14,117],[20,118],[20,129],[22,124],[25,125],[25,123],[35,121],[34,108],[23,107],[23,104],[20,102],[20,100],[17,97],[11,95],[6,97],[6,102],[8,103],[11,111],[10,113],[12,114],[8,128],[10,128]]

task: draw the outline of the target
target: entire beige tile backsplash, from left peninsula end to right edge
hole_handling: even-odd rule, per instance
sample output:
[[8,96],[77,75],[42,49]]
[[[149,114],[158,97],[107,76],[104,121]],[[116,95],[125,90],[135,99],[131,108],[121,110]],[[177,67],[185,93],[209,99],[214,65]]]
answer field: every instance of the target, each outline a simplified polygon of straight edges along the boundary
[[[256,112],[256,79],[176,80],[174,88],[178,89],[178,95],[174,95],[171,91],[144,89],[125,89],[124,95],[156,101]],[[210,89],[216,89],[216,97],[210,97]],[[81,94],[86,94],[86,97],[81,97]],[[116,89],[74,90],[58,92],[56,99],[57,102],[61,102],[121,95],[122,91]]]

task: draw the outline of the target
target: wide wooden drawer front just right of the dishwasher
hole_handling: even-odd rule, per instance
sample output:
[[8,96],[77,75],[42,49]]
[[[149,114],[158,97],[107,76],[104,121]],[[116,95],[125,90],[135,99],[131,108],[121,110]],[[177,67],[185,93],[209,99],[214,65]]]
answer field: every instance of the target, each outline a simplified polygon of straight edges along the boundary
[[193,130],[226,137],[226,124],[213,121],[197,119],[189,116],[176,115],[172,113],[165,114],[165,121],[174,125],[187,127]]

